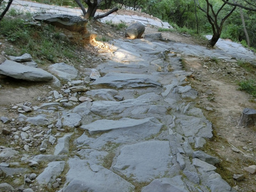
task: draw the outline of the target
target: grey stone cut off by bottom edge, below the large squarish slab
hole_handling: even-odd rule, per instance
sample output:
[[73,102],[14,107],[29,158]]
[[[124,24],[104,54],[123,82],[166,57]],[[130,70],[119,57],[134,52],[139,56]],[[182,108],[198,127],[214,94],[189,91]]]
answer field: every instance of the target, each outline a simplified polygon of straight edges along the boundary
[[141,192],[189,192],[181,175],[173,178],[155,179],[148,186],[143,187]]

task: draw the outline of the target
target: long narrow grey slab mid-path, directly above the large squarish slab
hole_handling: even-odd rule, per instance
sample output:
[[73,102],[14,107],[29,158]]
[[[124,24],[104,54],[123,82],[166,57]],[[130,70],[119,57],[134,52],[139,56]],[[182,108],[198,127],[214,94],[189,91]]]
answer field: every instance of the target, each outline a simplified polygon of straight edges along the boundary
[[[145,119],[131,119],[131,118],[122,118],[118,121],[109,120],[109,119],[100,119],[88,125],[82,125],[81,128],[88,130],[90,134],[95,134],[99,132],[106,132],[116,129],[143,129],[143,127],[150,126],[153,122],[150,119],[154,117],[149,117]],[[151,125],[152,126],[152,125]],[[149,128],[150,129],[150,128]]]

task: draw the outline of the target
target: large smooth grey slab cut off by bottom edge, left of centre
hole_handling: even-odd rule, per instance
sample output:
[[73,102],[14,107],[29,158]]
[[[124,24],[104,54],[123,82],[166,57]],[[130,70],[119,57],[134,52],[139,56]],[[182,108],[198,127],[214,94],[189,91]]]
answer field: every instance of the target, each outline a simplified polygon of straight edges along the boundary
[[71,158],[68,161],[69,171],[63,192],[92,191],[92,192],[130,192],[134,186],[100,165],[89,165],[87,161]]

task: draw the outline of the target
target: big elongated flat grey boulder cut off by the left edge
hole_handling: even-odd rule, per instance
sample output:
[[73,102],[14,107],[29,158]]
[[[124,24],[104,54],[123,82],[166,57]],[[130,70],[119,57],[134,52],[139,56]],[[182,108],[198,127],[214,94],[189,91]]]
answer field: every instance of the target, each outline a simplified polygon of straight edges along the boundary
[[0,74],[33,82],[47,82],[53,79],[52,74],[43,69],[25,66],[10,60],[5,60],[0,65]]

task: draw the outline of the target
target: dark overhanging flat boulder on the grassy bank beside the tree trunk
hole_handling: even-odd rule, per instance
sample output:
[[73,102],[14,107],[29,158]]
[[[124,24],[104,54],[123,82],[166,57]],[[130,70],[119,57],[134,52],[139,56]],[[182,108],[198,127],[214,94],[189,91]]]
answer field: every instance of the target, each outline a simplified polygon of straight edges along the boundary
[[34,16],[37,21],[50,23],[51,25],[65,28],[70,31],[77,31],[83,34],[87,33],[87,19],[68,14],[42,13]]

